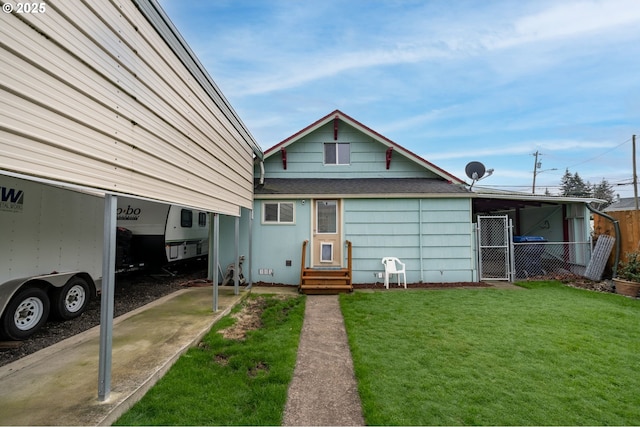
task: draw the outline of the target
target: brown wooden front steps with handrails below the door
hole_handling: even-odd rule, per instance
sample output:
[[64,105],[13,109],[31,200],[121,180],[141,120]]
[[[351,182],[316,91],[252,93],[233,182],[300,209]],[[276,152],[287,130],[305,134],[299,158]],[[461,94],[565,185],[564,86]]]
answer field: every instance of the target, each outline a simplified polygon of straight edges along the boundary
[[347,241],[348,268],[339,269],[314,269],[306,267],[307,244],[308,240],[302,243],[302,267],[300,268],[300,286],[298,290],[307,295],[352,292],[351,242]]

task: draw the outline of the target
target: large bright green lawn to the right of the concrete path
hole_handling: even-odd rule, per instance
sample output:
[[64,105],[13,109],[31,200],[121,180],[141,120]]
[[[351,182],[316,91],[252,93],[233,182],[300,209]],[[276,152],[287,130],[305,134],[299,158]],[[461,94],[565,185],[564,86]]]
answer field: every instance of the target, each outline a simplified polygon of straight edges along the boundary
[[640,425],[640,301],[524,290],[340,299],[369,425]]

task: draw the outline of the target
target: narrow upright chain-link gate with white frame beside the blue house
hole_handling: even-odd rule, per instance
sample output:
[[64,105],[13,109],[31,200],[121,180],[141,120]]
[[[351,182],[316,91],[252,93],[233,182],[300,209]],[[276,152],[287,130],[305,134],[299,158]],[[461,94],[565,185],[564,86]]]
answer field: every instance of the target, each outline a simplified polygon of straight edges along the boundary
[[507,215],[478,215],[480,280],[514,280],[513,226]]

